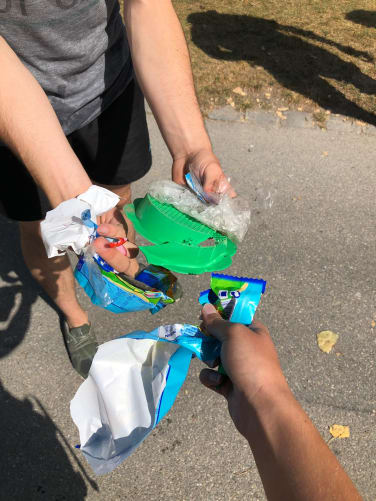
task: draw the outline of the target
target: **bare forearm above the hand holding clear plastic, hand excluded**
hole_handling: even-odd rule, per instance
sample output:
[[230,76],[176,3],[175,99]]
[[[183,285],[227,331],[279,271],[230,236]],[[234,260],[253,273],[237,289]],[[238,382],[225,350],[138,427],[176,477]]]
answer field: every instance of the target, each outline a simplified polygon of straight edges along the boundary
[[211,149],[187,44],[170,0],[126,0],[124,20],[139,84],[176,160]]

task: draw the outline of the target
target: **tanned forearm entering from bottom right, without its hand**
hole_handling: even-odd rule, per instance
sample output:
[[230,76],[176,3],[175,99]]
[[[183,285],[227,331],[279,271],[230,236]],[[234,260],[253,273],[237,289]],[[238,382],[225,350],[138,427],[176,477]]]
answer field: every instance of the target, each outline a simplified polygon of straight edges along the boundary
[[361,500],[334,454],[286,388],[251,406],[247,439],[269,501]]

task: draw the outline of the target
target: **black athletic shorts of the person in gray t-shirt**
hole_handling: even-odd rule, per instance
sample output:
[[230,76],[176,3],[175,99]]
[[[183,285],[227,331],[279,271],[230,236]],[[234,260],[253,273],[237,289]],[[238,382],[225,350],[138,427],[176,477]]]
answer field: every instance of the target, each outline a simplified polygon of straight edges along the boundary
[[[67,136],[93,182],[123,185],[137,181],[151,167],[144,97],[135,80],[101,115]],[[46,199],[24,165],[0,146],[0,202],[16,221],[44,219]]]

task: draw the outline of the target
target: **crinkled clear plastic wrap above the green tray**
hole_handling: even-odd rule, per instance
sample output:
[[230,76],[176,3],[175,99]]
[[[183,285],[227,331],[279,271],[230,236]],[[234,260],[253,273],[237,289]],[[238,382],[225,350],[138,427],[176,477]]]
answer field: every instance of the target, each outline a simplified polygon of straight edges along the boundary
[[[197,186],[195,186],[197,189]],[[149,194],[159,202],[171,204],[214,230],[241,242],[248,230],[251,211],[247,202],[240,198],[221,196],[218,203],[200,200],[199,191],[192,193],[188,188],[173,181],[156,181],[149,188]],[[203,198],[203,195],[200,195]]]

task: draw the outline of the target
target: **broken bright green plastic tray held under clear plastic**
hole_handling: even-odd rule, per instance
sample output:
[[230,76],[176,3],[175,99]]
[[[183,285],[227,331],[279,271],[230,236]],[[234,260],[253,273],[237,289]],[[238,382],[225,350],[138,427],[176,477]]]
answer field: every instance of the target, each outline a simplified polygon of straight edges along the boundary
[[140,247],[148,263],[194,274],[230,266],[235,243],[173,205],[148,194],[124,210],[137,233],[156,244]]

